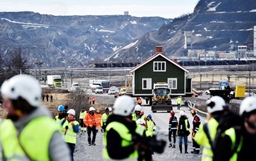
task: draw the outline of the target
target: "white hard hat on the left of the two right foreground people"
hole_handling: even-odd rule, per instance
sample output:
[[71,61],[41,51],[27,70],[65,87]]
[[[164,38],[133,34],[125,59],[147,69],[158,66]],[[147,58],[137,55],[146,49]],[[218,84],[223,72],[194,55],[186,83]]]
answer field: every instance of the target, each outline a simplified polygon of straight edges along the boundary
[[218,95],[215,95],[211,97],[211,99],[208,99],[206,101],[207,105],[207,111],[208,113],[213,113],[216,111],[223,111],[225,104],[225,101],[223,98],[221,98]]

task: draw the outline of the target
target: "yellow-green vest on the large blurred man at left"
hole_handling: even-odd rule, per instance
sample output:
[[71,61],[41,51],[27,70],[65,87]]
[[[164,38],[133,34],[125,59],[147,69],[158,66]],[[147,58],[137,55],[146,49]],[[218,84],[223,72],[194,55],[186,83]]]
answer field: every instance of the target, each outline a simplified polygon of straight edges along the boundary
[[[54,132],[60,130],[58,124],[52,118],[40,116],[31,120],[20,132],[19,140],[17,138],[17,129],[15,129],[11,120],[4,120],[0,126],[0,144],[3,147],[2,157],[5,160],[29,160],[28,153],[32,160],[50,160],[49,143]],[[20,147],[20,144],[26,150]]]

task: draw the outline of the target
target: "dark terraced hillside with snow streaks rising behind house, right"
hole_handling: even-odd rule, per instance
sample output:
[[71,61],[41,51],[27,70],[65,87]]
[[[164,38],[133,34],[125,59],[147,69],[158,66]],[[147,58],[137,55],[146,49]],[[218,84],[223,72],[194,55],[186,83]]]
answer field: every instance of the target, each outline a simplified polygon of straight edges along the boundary
[[253,26],[256,25],[256,3],[253,0],[200,0],[192,14],[175,18],[157,31],[147,32],[139,39],[112,53],[111,59],[132,55],[143,60],[154,54],[154,47],[163,46],[169,57],[186,56],[184,31],[192,31],[192,48],[204,50],[236,50],[231,44],[253,49]]

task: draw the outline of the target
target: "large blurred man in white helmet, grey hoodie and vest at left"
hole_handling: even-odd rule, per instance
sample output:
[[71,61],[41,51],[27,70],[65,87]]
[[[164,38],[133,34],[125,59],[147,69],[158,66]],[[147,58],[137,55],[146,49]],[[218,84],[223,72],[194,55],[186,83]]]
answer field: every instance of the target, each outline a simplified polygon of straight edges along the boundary
[[6,111],[0,126],[1,160],[71,160],[60,126],[41,104],[42,88],[35,78],[13,76],[4,81],[1,94]]

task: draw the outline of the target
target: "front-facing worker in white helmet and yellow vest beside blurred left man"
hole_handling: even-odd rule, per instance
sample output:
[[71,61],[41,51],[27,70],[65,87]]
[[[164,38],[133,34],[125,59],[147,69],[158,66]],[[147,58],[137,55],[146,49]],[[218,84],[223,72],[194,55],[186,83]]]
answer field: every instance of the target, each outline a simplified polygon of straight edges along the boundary
[[70,155],[74,160],[74,151],[76,148],[76,134],[79,132],[79,122],[76,121],[76,111],[68,109],[67,117],[61,121],[64,140],[70,149]]

